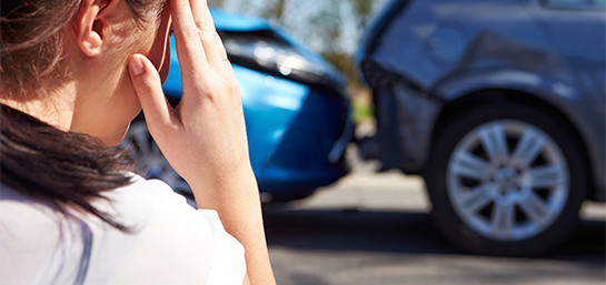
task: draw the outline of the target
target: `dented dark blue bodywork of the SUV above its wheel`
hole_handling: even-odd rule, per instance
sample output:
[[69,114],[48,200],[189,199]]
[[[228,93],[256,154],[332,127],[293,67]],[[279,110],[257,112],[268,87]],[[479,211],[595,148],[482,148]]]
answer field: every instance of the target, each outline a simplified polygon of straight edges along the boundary
[[[370,24],[357,55],[375,93],[384,167],[423,171],[434,124],[449,103],[509,90],[566,115],[604,200],[604,10],[539,0],[396,0],[389,7],[400,11]],[[380,24],[377,35],[372,27]]]

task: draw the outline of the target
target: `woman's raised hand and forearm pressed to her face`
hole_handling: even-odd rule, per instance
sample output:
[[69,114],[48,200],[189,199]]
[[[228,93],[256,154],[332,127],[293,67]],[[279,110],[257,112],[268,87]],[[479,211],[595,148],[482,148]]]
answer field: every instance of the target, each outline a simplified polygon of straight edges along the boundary
[[191,186],[198,207],[216,210],[245,246],[250,283],[275,284],[240,90],[226,50],[206,0],[170,0],[170,8],[183,88],[179,105],[168,104],[149,59],[135,54],[129,60],[149,132]]

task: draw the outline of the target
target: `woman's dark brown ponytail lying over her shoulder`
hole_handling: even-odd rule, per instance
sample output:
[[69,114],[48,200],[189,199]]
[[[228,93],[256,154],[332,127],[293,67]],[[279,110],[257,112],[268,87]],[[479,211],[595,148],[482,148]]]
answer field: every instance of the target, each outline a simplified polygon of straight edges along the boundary
[[132,159],[127,150],[105,147],[92,135],[63,132],[31,115],[1,105],[0,180],[14,191],[91,213],[125,227],[90,202],[101,192],[129,184]]

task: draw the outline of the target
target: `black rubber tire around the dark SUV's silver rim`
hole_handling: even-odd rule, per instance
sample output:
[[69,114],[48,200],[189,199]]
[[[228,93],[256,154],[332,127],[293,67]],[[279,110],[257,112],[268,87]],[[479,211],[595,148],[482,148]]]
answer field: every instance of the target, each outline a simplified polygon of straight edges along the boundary
[[[568,196],[559,216],[538,234],[524,240],[503,241],[483,235],[464,222],[448,194],[448,185],[453,189],[454,184],[447,185],[447,170],[455,147],[459,146],[461,139],[468,138],[466,134],[477,126],[488,122],[501,122],[499,120],[525,122],[548,134],[562,150],[560,153],[564,154],[568,166]],[[577,224],[579,207],[588,191],[588,170],[583,149],[566,125],[562,119],[538,106],[513,102],[477,106],[450,120],[444,131],[437,134],[424,173],[433,204],[433,218],[447,238],[464,251],[487,255],[537,255],[560,244]]]

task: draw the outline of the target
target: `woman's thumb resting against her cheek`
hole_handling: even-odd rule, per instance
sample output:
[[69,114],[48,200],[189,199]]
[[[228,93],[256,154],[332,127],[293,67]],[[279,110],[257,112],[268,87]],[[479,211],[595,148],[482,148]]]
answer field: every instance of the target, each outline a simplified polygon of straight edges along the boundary
[[130,80],[139,96],[139,102],[143,109],[149,131],[157,134],[159,128],[167,126],[177,122],[177,116],[172,108],[168,104],[160,75],[156,71],[153,63],[141,54],[133,54],[128,61]]

